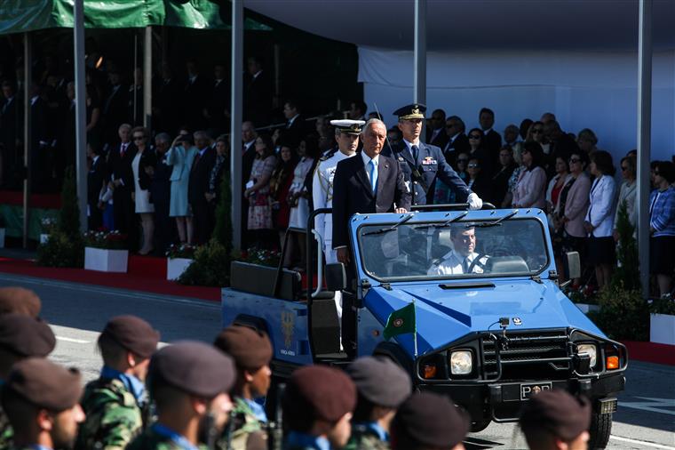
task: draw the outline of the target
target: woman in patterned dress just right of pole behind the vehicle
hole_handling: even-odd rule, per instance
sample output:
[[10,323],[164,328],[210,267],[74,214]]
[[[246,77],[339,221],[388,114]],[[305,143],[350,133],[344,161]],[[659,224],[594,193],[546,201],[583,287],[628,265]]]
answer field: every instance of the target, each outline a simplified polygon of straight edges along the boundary
[[250,171],[249,182],[243,196],[249,200],[249,232],[253,245],[269,249],[274,245],[272,237],[272,208],[269,202],[272,172],[276,165],[274,144],[269,134],[256,138],[256,159]]

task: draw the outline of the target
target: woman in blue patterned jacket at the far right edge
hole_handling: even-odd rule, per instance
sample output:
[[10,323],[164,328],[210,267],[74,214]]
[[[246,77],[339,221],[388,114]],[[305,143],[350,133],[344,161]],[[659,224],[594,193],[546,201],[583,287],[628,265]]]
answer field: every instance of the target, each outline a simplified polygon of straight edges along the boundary
[[675,269],[675,165],[658,161],[654,181],[656,189],[649,196],[650,272],[656,275],[661,297],[670,298]]

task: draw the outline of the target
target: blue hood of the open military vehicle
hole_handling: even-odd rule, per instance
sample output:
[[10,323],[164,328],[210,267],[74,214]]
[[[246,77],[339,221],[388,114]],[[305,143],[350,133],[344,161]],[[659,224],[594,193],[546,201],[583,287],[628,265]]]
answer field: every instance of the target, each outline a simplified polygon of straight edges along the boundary
[[[414,300],[418,354],[439,349],[467,333],[498,331],[500,317],[511,319],[507,330],[512,332],[570,327],[604,336],[552,281],[517,279],[493,283],[494,287],[452,289],[418,283],[392,285],[391,289],[377,286],[369,290],[364,304],[384,327],[393,311]],[[413,353],[412,333],[393,339]]]

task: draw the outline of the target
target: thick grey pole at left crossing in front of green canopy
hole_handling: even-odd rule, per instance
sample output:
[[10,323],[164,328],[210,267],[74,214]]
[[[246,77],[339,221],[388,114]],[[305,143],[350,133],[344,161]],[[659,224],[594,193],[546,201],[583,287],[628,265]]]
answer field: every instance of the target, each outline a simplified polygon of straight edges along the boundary
[[84,0],[75,0],[75,168],[80,230],[87,229],[87,100],[84,91]]

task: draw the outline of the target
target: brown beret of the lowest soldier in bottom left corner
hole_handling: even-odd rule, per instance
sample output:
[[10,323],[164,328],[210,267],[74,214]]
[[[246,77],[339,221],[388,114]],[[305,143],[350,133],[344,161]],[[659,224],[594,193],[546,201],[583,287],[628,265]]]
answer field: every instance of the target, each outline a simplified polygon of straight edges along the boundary
[[7,390],[13,390],[35,406],[63,411],[82,397],[82,376],[44,358],[26,358],[12,366]]

